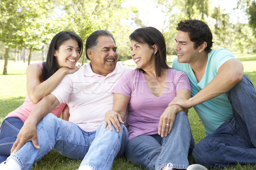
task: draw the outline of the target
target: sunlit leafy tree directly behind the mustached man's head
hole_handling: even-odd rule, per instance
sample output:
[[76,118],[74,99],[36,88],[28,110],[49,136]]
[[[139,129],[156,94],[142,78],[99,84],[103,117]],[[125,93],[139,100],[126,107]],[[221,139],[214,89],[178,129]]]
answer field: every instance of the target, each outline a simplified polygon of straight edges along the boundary
[[[127,42],[131,29],[122,24],[129,16],[136,13],[135,8],[124,8],[124,0],[66,0],[59,4],[61,8],[61,21],[64,22],[65,29],[75,31],[85,41],[87,37],[97,29],[111,31],[116,37],[119,57],[127,56]],[[122,37],[117,37],[122,35]],[[86,51],[84,51],[84,54]],[[85,55],[81,56],[80,62],[84,63]]]

